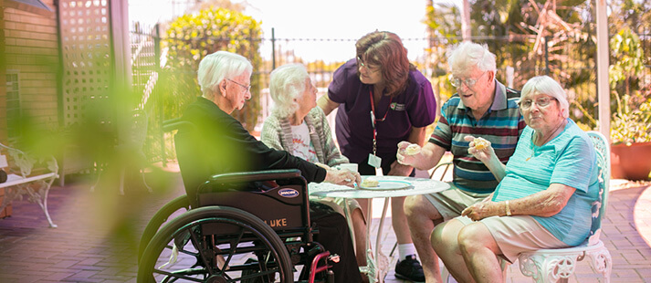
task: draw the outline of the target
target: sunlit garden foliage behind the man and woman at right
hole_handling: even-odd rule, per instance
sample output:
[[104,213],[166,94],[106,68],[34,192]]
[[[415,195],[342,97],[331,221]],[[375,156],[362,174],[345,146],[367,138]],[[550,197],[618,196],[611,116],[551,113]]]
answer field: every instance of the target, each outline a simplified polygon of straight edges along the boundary
[[[647,1],[614,0],[609,2],[609,10],[611,35],[617,34],[625,26],[637,34],[645,31],[648,33],[651,4]],[[426,23],[435,29],[436,37],[441,38],[439,45],[433,48],[433,53],[437,56],[441,53],[436,51],[437,48],[445,48],[460,40],[460,13],[453,7],[435,4],[427,15]],[[516,89],[533,76],[549,74],[561,82],[574,98],[573,105],[580,109],[571,111],[572,119],[593,123],[588,121],[597,105],[593,1],[475,1],[471,2],[470,15],[472,40],[487,44],[496,54],[499,69],[497,77],[500,81],[504,82],[503,70],[506,67],[515,68]],[[646,40],[648,42],[648,36]],[[651,53],[651,50],[642,52]],[[617,53],[611,52],[611,55],[611,64],[620,60]],[[435,61],[435,64],[439,64],[435,67],[438,69],[446,65],[445,60]],[[648,78],[648,68],[646,74]],[[436,76],[441,75],[435,72]],[[620,82],[618,88],[625,88],[625,85],[626,82]],[[446,87],[451,88],[447,83]],[[640,89],[649,87],[640,86]],[[616,107],[615,102],[612,107]]]

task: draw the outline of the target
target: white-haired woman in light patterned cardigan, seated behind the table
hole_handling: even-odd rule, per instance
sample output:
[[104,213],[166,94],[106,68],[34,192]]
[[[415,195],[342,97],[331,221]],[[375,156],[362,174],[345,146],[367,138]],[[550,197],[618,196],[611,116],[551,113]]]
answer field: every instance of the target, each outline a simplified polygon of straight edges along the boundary
[[[317,89],[305,66],[289,64],[271,72],[269,93],[274,100],[271,115],[262,126],[261,140],[268,147],[287,151],[309,162],[333,167],[347,163],[334,141],[326,116],[317,106]],[[352,217],[357,263],[366,265],[365,230],[362,210],[355,200],[325,198],[321,203],[342,212],[346,202]]]

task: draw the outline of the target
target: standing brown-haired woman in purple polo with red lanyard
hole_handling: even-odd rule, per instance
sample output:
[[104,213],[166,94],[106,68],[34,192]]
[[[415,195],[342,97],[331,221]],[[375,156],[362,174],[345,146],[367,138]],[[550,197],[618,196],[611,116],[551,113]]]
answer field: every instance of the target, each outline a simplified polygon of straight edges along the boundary
[[[337,142],[362,175],[408,176],[414,168],[395,161],[397,144],[408,141],[423,145],[425,127],[435,121],[436,100],[432,85],[407,59],[400,37],[376,31],[355,44],[357,57],[334,73],[328,95],[319,101],[326,115],[337,110]],[[424,281],[423,268],[415,259],[403,211],[404,197],[392,199],[392,222],[398,239],[400,260],[395,275]],[[360,200],[362,211],[367,201]]]

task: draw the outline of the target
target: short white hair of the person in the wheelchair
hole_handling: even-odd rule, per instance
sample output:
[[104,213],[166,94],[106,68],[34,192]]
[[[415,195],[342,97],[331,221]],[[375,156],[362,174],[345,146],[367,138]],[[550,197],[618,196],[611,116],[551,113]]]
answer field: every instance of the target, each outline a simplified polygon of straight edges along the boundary
[[197,80],[203,96],[212,100],[215,94],[219,93],[219,83],[244,72],[253,72],[253,66],[247,58],[228,51],[217,51],[201,60]]

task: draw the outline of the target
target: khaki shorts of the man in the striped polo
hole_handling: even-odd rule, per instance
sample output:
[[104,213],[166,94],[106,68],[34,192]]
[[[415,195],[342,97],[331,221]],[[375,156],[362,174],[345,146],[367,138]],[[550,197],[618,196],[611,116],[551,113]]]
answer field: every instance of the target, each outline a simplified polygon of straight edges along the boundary
[[447,221],[461,215],[466,207],[481,202],[489,194],[470,193],[457,188],[453,183],[448,183],[450,188],[446,191],[425,194],[425,198],[436,207],[438,213]]

